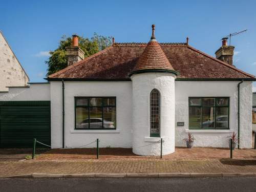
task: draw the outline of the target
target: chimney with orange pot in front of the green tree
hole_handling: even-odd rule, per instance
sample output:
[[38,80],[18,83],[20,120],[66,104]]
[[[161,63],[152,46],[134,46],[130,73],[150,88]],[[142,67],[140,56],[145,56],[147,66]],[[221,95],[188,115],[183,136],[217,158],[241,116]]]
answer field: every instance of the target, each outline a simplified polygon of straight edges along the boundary
[[66,47],[66,55],[68,59],[68,66],[84,59],[84,52],[78,47],[78,36],[72,35],[72,45]]

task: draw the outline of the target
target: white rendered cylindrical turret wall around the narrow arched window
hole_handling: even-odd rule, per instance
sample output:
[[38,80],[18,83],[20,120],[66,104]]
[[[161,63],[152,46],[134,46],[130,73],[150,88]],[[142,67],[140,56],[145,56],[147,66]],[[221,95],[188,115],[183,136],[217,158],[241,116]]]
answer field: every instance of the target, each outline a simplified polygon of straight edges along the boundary
[[161,94],[160,137],[163,155],[175,151],[175,76],[170,73],[132,75],[133,81],[133,153],[160,155],[160,138],[150,138],[150,93]]

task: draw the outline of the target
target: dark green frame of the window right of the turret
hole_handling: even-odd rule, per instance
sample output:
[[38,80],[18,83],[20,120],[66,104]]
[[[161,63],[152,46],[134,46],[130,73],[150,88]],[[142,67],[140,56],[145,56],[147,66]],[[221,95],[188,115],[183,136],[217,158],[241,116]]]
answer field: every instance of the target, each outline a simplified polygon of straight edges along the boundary
[[[214,103],[214,127],[203,127],[203,113],[202,113],[202,109],[203,107],[205,107],[205,105],[202,104],[202,99],[203,98],[214,98],[215,99],[215,103]],[[223,98],[223,99],[228,99],[228,103],[227,105],[221,105],[221,106],[218,106],[217,105],[217,99],[220,99],[220,98]],[[201,105],[190,105],[190,99],[201,99]],[[190,127],[189,126],[189,108],[190,107],[198,107],[198,108],[201,108],[201,127],[198,128],[198,127]],[[209,107],[212,107],[212,106],[209,106]],[[216,127],[216,109],[217,108],[228,108],[228,120],[227,120],[227,127],[223,128],[223,127]],[[229,130],[229,115],[230,115],[230,97],[188,97],[188,129],[189,130]]]

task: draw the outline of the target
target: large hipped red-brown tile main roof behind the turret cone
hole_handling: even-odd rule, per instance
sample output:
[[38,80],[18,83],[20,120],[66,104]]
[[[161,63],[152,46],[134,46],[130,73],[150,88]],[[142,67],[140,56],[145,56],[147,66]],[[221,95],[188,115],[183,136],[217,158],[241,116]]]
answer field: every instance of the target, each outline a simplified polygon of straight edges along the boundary
[[[131,80],[129,74],[142,55],[146,43],[115,43],[86,59],[49,76],[49,80]],[[254,78],[234,66],[184,43],[160,43],[177,79]]]

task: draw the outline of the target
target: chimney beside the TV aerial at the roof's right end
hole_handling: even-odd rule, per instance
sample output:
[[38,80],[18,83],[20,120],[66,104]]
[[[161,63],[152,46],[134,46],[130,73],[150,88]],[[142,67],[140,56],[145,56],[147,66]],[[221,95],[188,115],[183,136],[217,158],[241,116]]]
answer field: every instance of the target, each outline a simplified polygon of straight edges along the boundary
[[215,52],[216,58],[233,65],[234,46],[227,45],[226,37],[222,38],[222,46]]

